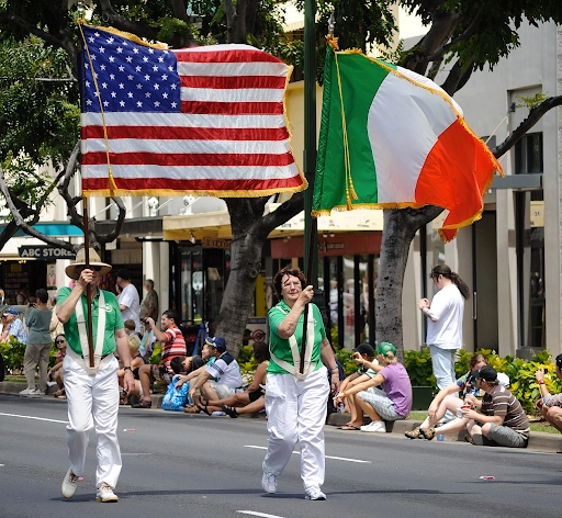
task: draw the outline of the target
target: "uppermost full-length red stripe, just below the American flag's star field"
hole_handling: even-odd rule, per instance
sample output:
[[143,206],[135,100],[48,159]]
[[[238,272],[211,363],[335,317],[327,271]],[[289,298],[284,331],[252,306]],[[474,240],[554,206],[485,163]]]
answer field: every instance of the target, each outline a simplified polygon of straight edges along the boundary
[[[108,138],[156,140],[286,140],[286,127],[108,126]],[[104,138],[103,126],[86,126],[81,139]]]

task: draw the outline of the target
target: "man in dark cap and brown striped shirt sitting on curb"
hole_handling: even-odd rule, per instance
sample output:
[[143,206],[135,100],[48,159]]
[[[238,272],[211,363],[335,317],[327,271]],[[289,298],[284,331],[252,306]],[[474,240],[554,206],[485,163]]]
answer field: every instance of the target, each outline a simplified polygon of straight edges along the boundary
[[482,402],[472,402],[472,408],[462,408],[467,424],[468,440],[476,446],[503,446],[527,448],[530,425],[519,401],[497,381],[492,367],[472,372],[476,386],[485,394]]

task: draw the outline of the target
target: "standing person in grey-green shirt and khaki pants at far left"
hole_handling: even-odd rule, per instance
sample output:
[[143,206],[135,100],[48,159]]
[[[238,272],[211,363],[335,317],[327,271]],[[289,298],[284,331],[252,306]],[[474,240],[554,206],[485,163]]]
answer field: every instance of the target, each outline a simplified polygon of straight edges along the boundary
[[[29,329],[27,345],[23,357],[23,371],[27,380],[27,388],[21,395],[40,395],[47,391],[48,354],[50,352],[50,318],[52,312],[47,307],[47,290],[41,289],[35,293],[36,302],[30,301],[24,318]],[[40,365],[40,388],[35,390],[35,370]]]

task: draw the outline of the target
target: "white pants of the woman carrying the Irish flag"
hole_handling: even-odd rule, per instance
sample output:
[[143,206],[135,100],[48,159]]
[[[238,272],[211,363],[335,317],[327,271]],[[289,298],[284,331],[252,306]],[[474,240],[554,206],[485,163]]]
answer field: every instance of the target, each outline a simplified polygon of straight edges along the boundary
[[304,488],[324,484],[324,425],[328,395],[325,367],[304,381],[296,381],[292,374],[268,374],[266,412],[269,448],[263,460],[265,471],[280,475],[299,442]]

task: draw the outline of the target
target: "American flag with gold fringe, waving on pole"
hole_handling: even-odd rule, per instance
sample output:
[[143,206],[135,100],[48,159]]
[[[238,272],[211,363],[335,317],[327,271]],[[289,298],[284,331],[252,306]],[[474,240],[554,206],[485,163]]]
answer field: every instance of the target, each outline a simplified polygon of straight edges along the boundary
[[80,26],[85,195],[306,189],[284,114],[291,67],[249,45],[168,50]]

